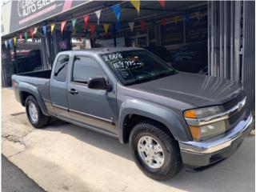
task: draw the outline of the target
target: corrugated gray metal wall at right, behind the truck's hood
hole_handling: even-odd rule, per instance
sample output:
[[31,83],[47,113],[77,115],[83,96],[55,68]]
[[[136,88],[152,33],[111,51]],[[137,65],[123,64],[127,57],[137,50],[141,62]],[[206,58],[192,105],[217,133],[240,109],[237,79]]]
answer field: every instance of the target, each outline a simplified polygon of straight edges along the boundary
[[255,110],[255,2],[208,2],[209,74],[240,82]]

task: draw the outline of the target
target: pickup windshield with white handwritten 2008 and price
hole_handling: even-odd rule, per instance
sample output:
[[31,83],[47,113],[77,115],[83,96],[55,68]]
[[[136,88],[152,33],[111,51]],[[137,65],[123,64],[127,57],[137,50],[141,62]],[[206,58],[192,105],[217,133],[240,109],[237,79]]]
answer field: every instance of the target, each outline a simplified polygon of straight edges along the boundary
[[124,85],[163,78],[175,73],[166,62],[147,50],[102,54],[102,58]]

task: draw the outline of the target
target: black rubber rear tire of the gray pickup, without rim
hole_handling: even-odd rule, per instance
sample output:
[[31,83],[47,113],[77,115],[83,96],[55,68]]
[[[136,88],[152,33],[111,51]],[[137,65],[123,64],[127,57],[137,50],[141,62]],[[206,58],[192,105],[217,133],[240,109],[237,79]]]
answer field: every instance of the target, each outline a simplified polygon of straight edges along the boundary
[[[30,106],[31,102],[34,103],[34,106],[36,107],[36,110],[38,111],[38,120],[37,121],[33,121],[32,118],[30,117],[29,106]],[[50,117],[48,117],[42,113],[42,110],[41,110],[40,106],[38,105],[37,100],[31,95],[26,98],[26,116],[29,119],[31,125],[34,126],[35,128],[42,128],[43,126],[47,126],[50,122]]]

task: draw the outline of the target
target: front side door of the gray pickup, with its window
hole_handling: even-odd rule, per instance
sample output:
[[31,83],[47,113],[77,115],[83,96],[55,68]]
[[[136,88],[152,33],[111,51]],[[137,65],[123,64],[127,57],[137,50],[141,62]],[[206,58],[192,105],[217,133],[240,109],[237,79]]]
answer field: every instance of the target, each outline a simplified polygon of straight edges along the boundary
[[114,126],[116,95],[114,91],[92,90],[88,88],[90,78],[106,77],[94,58],[75,55],[67,86],[70,114],[75,122],[83,126],[118,134]]

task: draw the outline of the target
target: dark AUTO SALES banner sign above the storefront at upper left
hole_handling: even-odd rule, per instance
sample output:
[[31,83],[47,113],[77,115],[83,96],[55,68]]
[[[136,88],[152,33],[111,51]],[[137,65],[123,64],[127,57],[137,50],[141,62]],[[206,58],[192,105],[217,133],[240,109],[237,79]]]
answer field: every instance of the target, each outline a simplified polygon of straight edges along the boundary
[[81,6],[87,1],[74,0],[37,0],[12,1],[10,16],[10,33],[26,26],[62,14],[75,6]]

